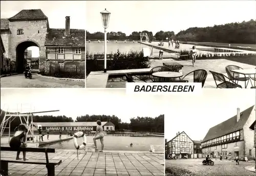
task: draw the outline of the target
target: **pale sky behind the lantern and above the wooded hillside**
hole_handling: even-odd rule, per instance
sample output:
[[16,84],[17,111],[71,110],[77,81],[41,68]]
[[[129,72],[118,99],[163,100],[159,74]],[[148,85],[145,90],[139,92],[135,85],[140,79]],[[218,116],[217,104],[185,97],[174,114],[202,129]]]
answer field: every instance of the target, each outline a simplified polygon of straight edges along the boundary
[[255,19],[256,1],[87,1],[87,27],[103,32],[100,12],[111,12],[108,31],[153,34]]

